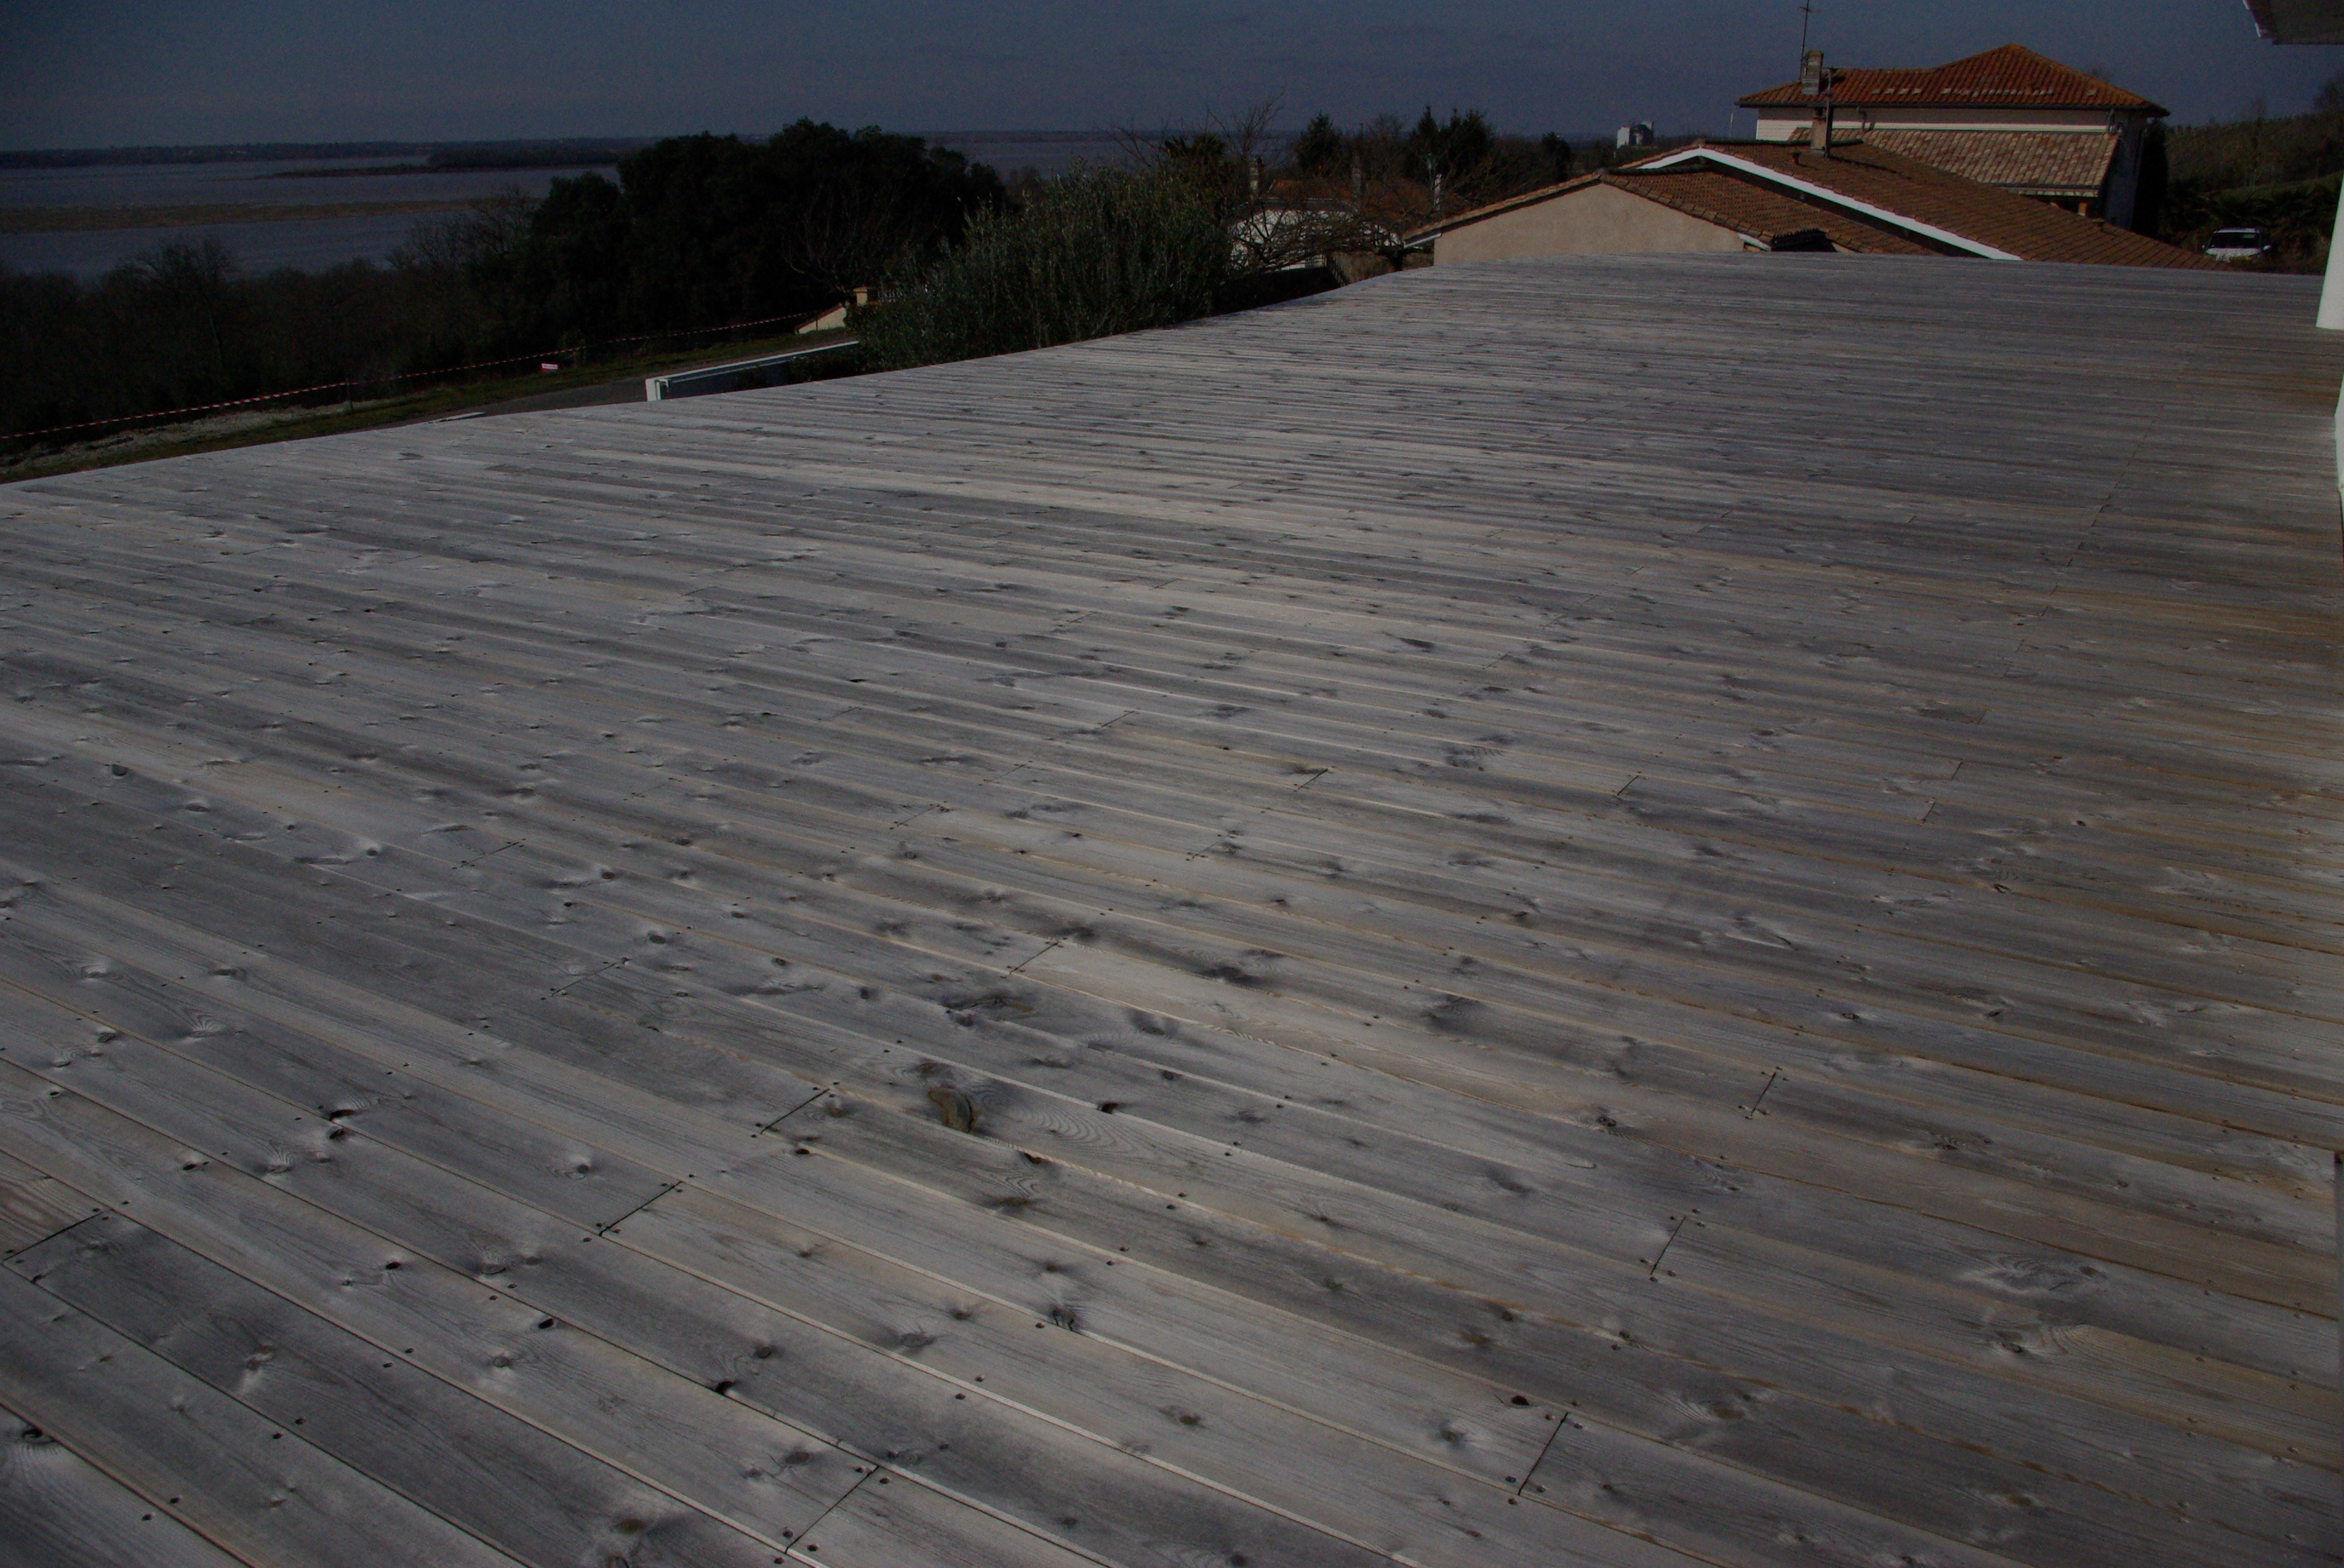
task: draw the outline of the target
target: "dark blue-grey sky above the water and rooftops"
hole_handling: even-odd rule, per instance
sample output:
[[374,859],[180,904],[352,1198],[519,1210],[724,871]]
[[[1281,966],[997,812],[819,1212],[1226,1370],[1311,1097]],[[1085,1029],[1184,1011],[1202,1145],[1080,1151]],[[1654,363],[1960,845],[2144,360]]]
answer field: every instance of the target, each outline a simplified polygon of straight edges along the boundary
[[[1282,96],[1357,122],[1725,131],[1798,70],[1788,0],[5,0],[0,148],[1191,124]],[[2168,105],[2304,108],[2344,49],[2239,0],[1819,0],[1842,66],[2023,42]],[[1749,117],[1742,120],[1744,129]]]

